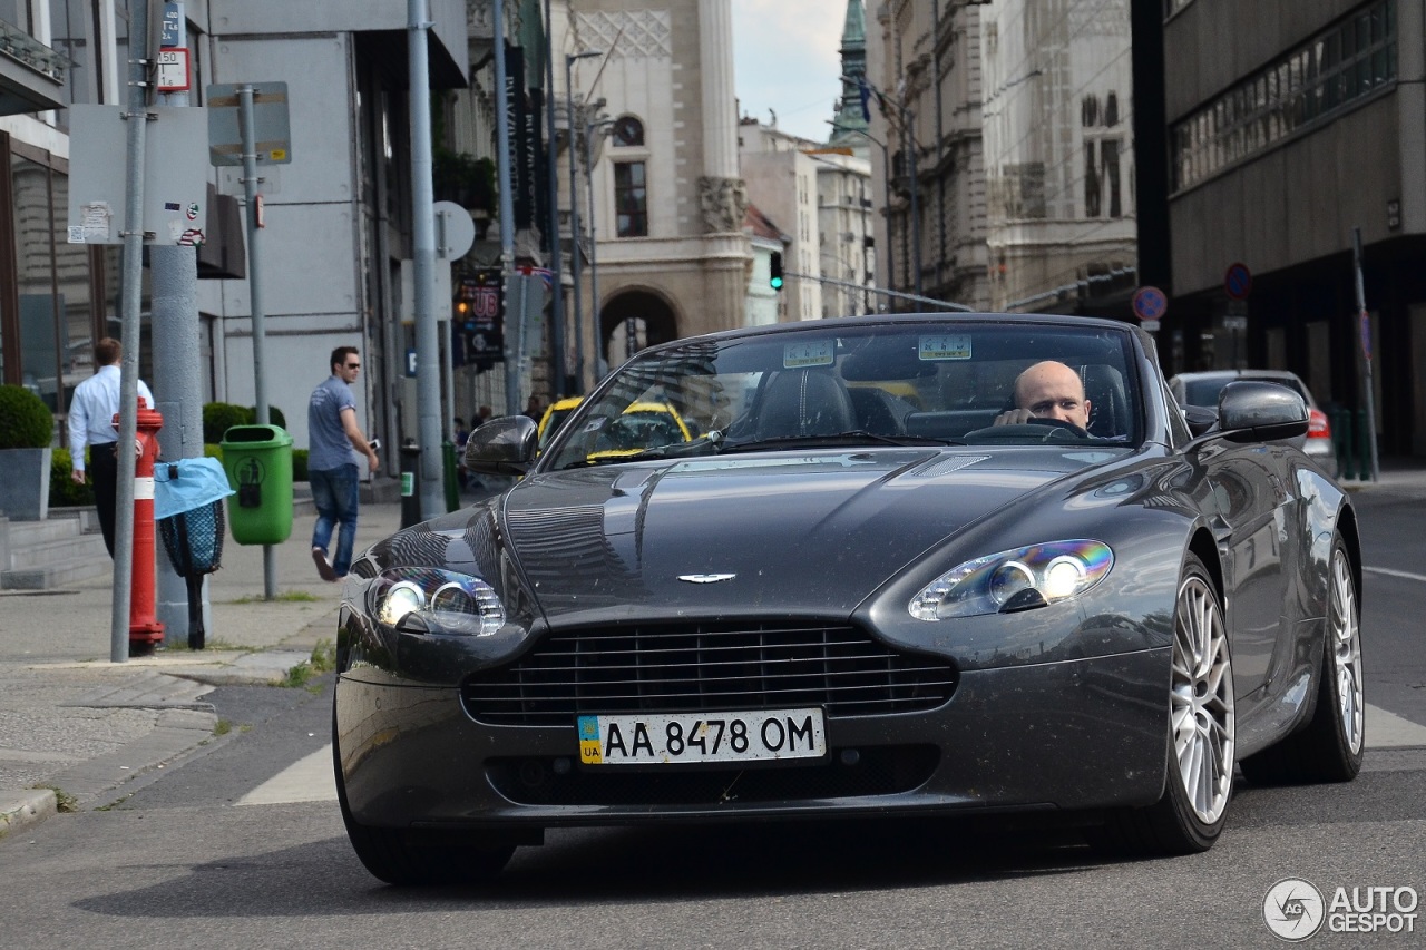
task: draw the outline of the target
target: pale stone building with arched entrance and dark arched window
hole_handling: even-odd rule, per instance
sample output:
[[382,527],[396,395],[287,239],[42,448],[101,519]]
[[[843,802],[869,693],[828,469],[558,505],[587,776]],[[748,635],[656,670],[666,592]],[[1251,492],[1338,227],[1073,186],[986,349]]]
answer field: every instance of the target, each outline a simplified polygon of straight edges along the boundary
[[556,63],[582,57],[572,61],[572,88],[558,94],[597,104],[575,114],[602,123],[576,126],[575,136],[603,136],[588,194],[578,195],[588,203],[597,268],[585,268],[582,292],[596,362],[617,365],[635,347],[742,325],[753,254],[743,231],[730,3],[553,7]]

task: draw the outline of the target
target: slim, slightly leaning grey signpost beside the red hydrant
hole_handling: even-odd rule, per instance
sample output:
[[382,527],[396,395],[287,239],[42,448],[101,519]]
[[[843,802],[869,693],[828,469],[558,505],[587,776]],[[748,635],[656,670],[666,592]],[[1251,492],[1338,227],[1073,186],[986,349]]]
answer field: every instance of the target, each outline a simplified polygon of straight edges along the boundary
[[134,452],[138,438],[138,347],[144,304],[144,144],[148,123],[148,3],[128,11],[128,120],[125,141],[123,330],[118,365],[118,485],[114,502],[114,593],[110,613],[110,659],[128,660],[128,608],[134,582]]

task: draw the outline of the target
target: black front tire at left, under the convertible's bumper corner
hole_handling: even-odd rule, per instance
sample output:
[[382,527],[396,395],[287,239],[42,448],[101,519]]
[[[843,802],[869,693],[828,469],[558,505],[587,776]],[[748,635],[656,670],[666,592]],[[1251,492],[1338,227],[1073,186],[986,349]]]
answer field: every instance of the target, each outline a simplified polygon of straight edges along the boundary
[[337,777],[337,802],[342,810],[342,824],[352,850],[372,876],[388,884],[476,884],[493,880],[511,857],[513,846],[452,847],[442,844],[449,836],[422,839],[409,829],[362,824],[347,803],[347,780],[342,775],[342,753],[337,742],[337,709],[332,708],[332,767]]

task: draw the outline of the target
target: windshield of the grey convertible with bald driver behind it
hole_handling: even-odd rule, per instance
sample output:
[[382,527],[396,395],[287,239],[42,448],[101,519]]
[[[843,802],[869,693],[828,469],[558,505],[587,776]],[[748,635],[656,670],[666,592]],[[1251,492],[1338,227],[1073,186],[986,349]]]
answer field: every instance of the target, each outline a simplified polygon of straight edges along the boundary
[[[1068,391],[1050,399],[1025,382],[1047,361],[1068,374]],[[1082,414],[997,424],[1017,399],[1021,417],[1077,401]],[[819,321],[639,355],[580,404],[546,468],[817,445],[1131,445],[1142,439],[1141,407],[1127,331]]]

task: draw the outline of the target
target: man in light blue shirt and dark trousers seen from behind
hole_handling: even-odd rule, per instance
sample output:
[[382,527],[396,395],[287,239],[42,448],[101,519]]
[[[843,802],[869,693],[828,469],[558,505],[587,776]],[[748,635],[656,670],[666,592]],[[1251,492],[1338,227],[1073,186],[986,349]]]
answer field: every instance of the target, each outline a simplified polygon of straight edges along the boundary
[[[88,475],[94,479],[94,508],[98,511],[98,528],[104,532],[104,546],[114,556],[114,508],[118,498],[118,456],[116,442],[118,427],[118,359],[123,355],[120,342],[106,337],[94,344],[94,362],[98,369],[93,377],[74,387],[70,399],[70,478],[77,485],[86,481],[84,446],[88,446]],[[138,395],[144,407],[154,408],[154,394],[143,379],[138,379]]]

